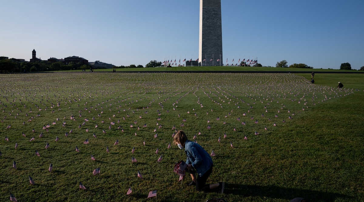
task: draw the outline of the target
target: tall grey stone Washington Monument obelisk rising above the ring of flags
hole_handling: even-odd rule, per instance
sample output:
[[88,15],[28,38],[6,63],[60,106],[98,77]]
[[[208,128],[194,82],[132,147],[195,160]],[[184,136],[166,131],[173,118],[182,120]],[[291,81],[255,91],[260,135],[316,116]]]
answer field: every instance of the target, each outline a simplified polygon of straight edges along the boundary
[[223,65],[221,0],[200,0],[198,58],[202,66]]

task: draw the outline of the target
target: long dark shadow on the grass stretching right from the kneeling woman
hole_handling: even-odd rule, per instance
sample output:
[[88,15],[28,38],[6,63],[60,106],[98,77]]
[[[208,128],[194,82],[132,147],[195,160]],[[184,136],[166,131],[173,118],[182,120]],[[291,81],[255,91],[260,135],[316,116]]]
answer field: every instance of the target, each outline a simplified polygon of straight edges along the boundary
[[335,201],[337,198],[350,199],[353,198],[349,195],[314,191],[308,189],[295,189],[285,188],[278,186],[257,186],[257,185],[237,185],[226,184],[226,194],[240,195],[241,197],[268,197],[291,200],[296,197],[308,199],[310,202],[314,201]]

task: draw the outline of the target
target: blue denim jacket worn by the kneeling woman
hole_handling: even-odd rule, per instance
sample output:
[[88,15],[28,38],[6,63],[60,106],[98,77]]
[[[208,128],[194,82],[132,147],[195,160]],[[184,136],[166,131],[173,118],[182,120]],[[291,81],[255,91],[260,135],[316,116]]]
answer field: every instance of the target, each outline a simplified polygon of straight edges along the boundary
[[185,152],[187,155],[186,164],[192,164],[200,177],[212,166],[212,158],[199,144],[186,140]]

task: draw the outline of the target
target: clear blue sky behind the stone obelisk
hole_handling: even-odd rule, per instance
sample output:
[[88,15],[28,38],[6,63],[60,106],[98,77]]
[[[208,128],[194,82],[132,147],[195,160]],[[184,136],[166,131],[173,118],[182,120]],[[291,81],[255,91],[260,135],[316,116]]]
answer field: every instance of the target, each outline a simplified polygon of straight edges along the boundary
[[[221,0],[223,62],[364,66],[363,0]],[[84,57],[114,65],[198,58],[198,0],[11,0],[0,4],[0,56]]]

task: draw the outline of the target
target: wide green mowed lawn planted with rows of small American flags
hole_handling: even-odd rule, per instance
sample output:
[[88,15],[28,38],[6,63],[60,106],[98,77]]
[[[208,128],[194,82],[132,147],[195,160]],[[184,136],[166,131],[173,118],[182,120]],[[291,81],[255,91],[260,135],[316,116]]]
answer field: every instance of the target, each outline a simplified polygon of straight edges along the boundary
[[[19,201],[206,201],[213,197],[227,201],[289,201],[294,197],[363,201],[361,75],[316,74],[315,84],[310,84],[310,74],[0,75],[1,201],[9,200],[9,191]],[[338,81],[347,88],[336,89]],[[29,119],[32,121],[27,122]],[[110,122],[115,125],[108,129]],[[48,132],[42,129],[47,124]],[[8,125],[11,128],[5,129]],[[186,157],[175,145],[167,149],[173,126],[185,130],[191,140],[201,131],[197,143],[217,154],[207,183],[225,181],[225,194],[195,191],[186,186],[189,176],[178,182],[174,162]],[[65,137],[71,129],[73,133]],[[41,132],[44,136],[39,138]],[[33,136],[35,140],[29,142]],[[55,142],[57,136],[60,140]],[[87,138],[90,143],[85,145]],[[114,145],[116,140],[118,145]],[[50,147],[45,149],[47,142]],[[158,163],[160,155],[163,160]],[[138,162],[131,163],[131,157]],[[52,173],[48,172],[50,163]],[[93,176],[96,167],[101,174]],[[138,170],[144,179],[137,178]],[[28,176],[36,185],[29,183]],[[80,181],[87,190],[79,190]],[[130,186],[132,194],[126,195]],[[157,190],[157,198],[147,199],[153,190]]]

